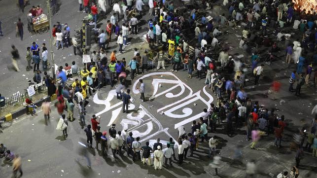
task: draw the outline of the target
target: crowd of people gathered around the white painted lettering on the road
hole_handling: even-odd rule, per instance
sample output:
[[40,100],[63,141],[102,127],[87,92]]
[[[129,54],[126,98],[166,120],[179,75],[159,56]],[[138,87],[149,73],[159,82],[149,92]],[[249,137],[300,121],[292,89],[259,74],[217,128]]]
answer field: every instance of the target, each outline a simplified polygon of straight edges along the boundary
[[[222,5],[229,11],[229,15],[214,16],[211,20],[208,13],[196,10],[190,5],[187,6],[191,10],[187,17],[184,9],[177,8],[173,1],[148,0],[145,3],[144,0],[136,0],[134,3],[133,0],[123,0],[123,4],[121,7],[117,2],[112,4],[114,13],[107,20],[106,30],[100,29],[98,31],[96,25],[100,20],[100,14],[106,11],[104,9],[106,7],[100,2],[97,3],[96,0],[79,0],[79,11],[84,10],[88,14],[90,24],[95,25],[96,38],[98,38],[99,43],[99,50],[93,51],[91,54],[91,62],[84,64],[84,71],[88,75],[81,80],[75,79],[71,85],[68,85],[68,78],[71,74],[78,73],[78,66],[75,62],[72,62],[72,66],[69,64],[65,64],[65,67],[60,66],[57,78],[61,82],[56,89],[53,78],[44,73],[45,84],[49,88],[48,95],[57,95],[58,101],[55,103],[55,107],[61,116],[58,130],[63,131],[65,138],[68,137],[68,121],[75,119],[74,108],[78,108],[78,121],[81,128],[85,128],[87,147],[93,147],[93,138],[95,138],[96,148],[99,149],[100,143],[103,156],[107,156],[106,152],[111,149],[112,155],[116,159],[116,154],[123,155],[123,150],[125,150],[127,156],[131,155],[134,162],[142,161],[144,165],[146,159],[148,164],[152,165],[151,157],[153,156],[154,169],[161,170],[162,166],[166,168],[172,166],[172,157],[181,166],[183,160],[187,158],[188,150],[190,150],[189,157],[191,157],[200,144],[208,141],[210,148],[208,154],[212,160],[211,167],[215,169],[215,175],[218,174],[217,169],[221,161],[219,152],[216,152],[217,144],[220,141],[216,136],[209,137],[211,133],[220,133],[220,130],[224,128],[225,133],[233,137],[236,129],[246,126],[246,140],[251,139],[252,141],[249,145],[250,149],[257,149],[256,144],[260,138],[267,137],[269,134],[274,134],[274,145],[278,149],[282,147],[283,132],[284,128],[287,127],[285,117],[284,115],[279,116],[276,113],[276,108],[266,108],[248,98],[244,90],[247,85],[247,74],[243,68],[251,64],[252,72],[250,75],[254,76],[254,85],[257,85],[260,83],[259,79],[264,73],[265,66],[285,57],[286,64],[293,62],[296,65],[296,70],[291,73],[289,78],[289,91],[295,91],[295,95],[299,96],[301,86],[309,85],[311,78],[316,85],[317,70],[316,67],[315,69],[313,67],[317,64],[317,54],[314,53],[317,48],[315,7],[303,10],[298,7],[294,9],[293,3],[289,0],[224,0]],[[205,9],[212,8],[212,3],[203,1],[202,6]],[[147,13],[144,7],[148,9],[150,16],[150,19],[147,20],[146,33],[149,48],[142,51],[135,48],[134,55],[128,64],[125,58],[121,60],[117,58],[117,50],[113,50],[108,56],[106,48],[113,40],[112,33],[115,34],[120,53],[124,51],[123,46],[129,44],[128,36],[134,37],[134,34],[139,33],[138,23]],[[120,28],[119,20],[122,14],[124,23]],[[222,36],[228,33],[225,31],[227,27],[237,26],[244,27],[239,47],[244,50],[247,56],[250,56],[250,59],[245,61],[230,55],[230,49],[222,45],[224,41],[221,41]],[[292,31],[295,31],[296,34],[291,33]],[[56,39],[57,49],[60,45],[62,48],[64,45],[67,47],[70,45],[70,28],[67,24],[65,24],[63,33],[59,23],[54,25],[52,35]],[[273,37],[277,37],[277,39],[274,40]],[[282,44],[282,41],[285,44]],[[43,45],[45,46],[45,44]],[[282,49],[282,45],[285,46],[285,51]],[[265,60],[261,59],[259,48],[267,52]],[[39,74],[39,47],[33,42],[32,47],[28,48],[29,53],[30,50],[33,55],[29,59],[34,60],[34,71],[37,67],[37,74]],[[172,64],[169,65],[170,63]],[[308,64],[307,68],[304,67],[305,64]],[[43,71],[45,71],[45,66],[43,60]],[[28,67],[32,68],[30,63],[28,63]],[[206,77],[204,83],[209,86],[217,98],[215,103],[210,104],[210,109],[203,109],[204,114],[198,120],[193,121],[191,128],[182,126],[178,128],[177,140],[170,138],[166,149],[164,149],[165,145],[162,145],[160,139],[157,139],[153,146],[149,145],[149,142],[143,144],[139,142],[139,137],[133,137],[132,132],[127,133],[127,130],[117,132],[115,124],[111,125],[108,132],[101,131],[101,119],[96,115],[92,115],[91,123],[86,124],[85,107],[88,104],[88,93],[92,96],[96,90],[101,90],[108,85],[112,88],[116,84],[117,99],[123,101],[123,112],[129,112],[128,106],[131,96],[129,95],[127,76],[130,75],[131,80],[133,80],[135,75],[161,68],[163,70],[170,68],[169,70],[172,72],[187,71],[188,78],[192,78],[192,76],[196,76],[198,79]],[[314,77],[311,77],[314,70]],[[139,81],[141,83],[140,88],[138,88],[141,91],[141,101],[145,102],[145,86],[142,80]],[[295,82],[297,82],[296,89],[293,88]],[[48,101],[42,104],[42,109],[47,125],[51,112]],[[68,116],[64,114],[65,110],[67,110]],[[312,154],[317,157],[316,129],[317,115],[309,128],[299,131],[299,135],[302,136],[300,142],[297,140],[292,142],[291,148],[296,150],[296,155],[295,166],[290,172],[294,178],[299,175],[299,162],[303,156],[304,148],[311,151],[312,146]],[[190,131],[186,132],[185,130]],[[308,138],[306,146],[304,146],[304,137]],[[6,151],[5,155],[9,154],[10,152]],[[241,145],[237,146],[234,158],[234,161],[242,162]],[[88,167],[91,167],[90,162]],[[246,174],[250,178],[256,174],[255,161],[247,163]],[[285,178],[287,175],[288,172],[283,172],[280,176]]]

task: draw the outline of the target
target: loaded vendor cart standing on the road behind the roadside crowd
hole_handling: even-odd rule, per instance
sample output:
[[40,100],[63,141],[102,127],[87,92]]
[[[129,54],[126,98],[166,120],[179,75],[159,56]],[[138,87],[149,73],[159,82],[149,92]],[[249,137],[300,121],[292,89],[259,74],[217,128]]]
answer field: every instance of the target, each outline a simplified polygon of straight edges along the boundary
[[44,34],[48,31],[49,21],[45,14],[41,14],[36,17],[32,17],[32,14],[28,15],[28,30],[31,34]]

